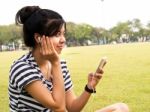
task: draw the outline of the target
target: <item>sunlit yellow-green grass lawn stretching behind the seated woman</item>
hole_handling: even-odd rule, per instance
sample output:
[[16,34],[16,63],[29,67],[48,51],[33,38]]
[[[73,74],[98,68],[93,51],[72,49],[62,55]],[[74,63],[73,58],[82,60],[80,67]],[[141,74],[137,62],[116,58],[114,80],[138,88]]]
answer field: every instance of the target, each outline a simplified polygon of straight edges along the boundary
[[[8,74],[13,60],[26,51],[0,53],[0,111],[8,112]],[[87,74],[94,72],[100,58],[108,57],[104,77],[83,112],[115,102],[127,103],[132,112],[150,111],[150,43],[100,45],[65,48],[62,57],[77,95],[84,90]]]

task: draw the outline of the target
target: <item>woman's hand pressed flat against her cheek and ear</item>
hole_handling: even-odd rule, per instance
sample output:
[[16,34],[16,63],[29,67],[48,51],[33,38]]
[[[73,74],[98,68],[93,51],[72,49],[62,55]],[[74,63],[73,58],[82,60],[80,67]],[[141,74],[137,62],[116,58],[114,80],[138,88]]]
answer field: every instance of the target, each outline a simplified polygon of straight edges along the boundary
[[51,38],[43,35],[40,44],[41,44],[40,52],[43,58],[49,60],[51,64],[60,61],[59,54],[56,52]]

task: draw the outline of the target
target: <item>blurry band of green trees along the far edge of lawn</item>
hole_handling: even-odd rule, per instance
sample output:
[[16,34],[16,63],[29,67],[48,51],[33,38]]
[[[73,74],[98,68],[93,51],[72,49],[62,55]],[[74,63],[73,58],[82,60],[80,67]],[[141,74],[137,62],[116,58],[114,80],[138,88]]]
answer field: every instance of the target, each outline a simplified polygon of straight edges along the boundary
[[[137,42],[138,40],[150,40],[150,25],[142,25],[139,19],[132,21],[120,22],[111,29],[101,27],[93,27],[88,24],[75,24],[67,22],[66,40],[68,46],[106,44],[112,41],[116,42]],[[19,46],[22,40],[21,27],[14,24],[8,26],[0,26],[0,45],[15,43]],[[125,35],[126,37],[122,38]],[[142,39],[141,39],[142,38]],[[146,38],[146,39],[144,39]],[[1,46],[0,46],[1,47]]]

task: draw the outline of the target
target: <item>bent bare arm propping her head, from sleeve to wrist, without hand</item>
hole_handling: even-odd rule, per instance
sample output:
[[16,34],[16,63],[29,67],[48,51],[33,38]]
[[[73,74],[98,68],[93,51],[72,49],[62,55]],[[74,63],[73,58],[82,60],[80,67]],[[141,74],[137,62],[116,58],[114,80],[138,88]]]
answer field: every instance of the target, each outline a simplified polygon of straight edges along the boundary
[[[45,107],[55,112],[64,112],[65,97],[64,83],[60,72],[60,66],[53,67],[53,90],[52,93],[42,84],[41,81],[34,81],[26,86],[28,93]],[[59,76],[60,75],[60,76]],[[61,99],[61,100],[60,100]]]

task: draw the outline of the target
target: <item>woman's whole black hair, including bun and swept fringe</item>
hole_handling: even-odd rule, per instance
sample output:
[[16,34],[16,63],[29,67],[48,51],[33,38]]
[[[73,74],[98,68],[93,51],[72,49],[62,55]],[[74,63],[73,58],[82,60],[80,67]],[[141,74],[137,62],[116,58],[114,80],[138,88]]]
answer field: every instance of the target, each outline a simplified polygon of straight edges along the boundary
[[54,36],[65,24],[60,14],[39,6],[25,6],[16,14],[16,25],[23,25],[23,39],[28,47],[35,47],[34,34]]

